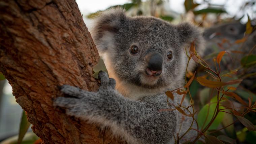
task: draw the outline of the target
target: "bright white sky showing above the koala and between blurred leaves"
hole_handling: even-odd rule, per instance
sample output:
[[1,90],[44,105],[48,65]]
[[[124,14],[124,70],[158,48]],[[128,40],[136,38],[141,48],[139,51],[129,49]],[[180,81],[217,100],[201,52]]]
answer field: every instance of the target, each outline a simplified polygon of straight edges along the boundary
[[[142,0],[146,1],[146,0]],[[171,10],[178,13],[185,13],[184,7],[185,0],[169,0],[169,7]],[[195,0],[196,3],[203,3],[204,0]],[[212,4],[225,5],[227,11],[227,16],[242,17],[244,14],[249,14],[251,18],[256,17],[256,6],[252,9],[246,9],[245,11],[240,11],[241,6],[249,0],[211,0]],[[87,15],[89,13],[96,12],[98,10],[105,10],[106,8],[114,5],[123,5],[125,3],[130,3],[131,0],[76,0],[78,7],[82,14]],[[201,4],[196,7],[196,9],[206,8],[206,4]],[[246,23],[248,21],[247,16],[244,16],[241,22]],[[85,20],[87,22],[87,20]],[[90,21],[88,22],[90,23]],[[87,24],[87,23],[86,23]]]

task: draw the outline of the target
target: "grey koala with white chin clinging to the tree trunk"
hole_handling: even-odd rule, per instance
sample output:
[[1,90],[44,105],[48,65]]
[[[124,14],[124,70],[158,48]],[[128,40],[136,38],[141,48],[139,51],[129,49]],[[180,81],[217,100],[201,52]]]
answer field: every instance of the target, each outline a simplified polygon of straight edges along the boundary
[[[192,118],[177,110],[161,110],[175,109],[180,103],[182,96],[175,94],[167,103],[165,92],[184,85],[184,48],[195,41],[197,51],[203,53],[201,30],[151,16],[129,17],[117,8],[97,17],[92,36],[110,78],[99,73],[101,86],[96,93],[64,85],[61,91],[69,97],[58,97],[54,104],[70,116],[109,127],[113,135],[130,144],[177,141]],[[183,105],[189,104],[185,101]],[[196,136],[197,132],[190,130],[179,142]]]

